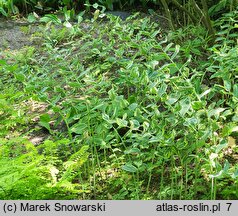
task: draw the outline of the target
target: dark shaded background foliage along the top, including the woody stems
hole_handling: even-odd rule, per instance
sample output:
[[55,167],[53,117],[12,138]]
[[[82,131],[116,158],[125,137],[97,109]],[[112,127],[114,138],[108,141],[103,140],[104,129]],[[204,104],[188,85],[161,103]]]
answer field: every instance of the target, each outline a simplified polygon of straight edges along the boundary
[[[171,30],[178,29],[181,26],[202,25],[207,29],[209,35],[209,43],[213,44],[215,40],[216,29],[213,26],[212,19],[218,18],[221,14],[226,12],[235,11],[238,7],[237,0],[216,0],[216,1],[197,1],[197,0],[60,0],[60,1],[48,1],[48,0],[31,0],[31,1],[18,1],[18,0],[1,0],[0,1],[0,14],[3,16],[11,16],[16,14],[29,14],[31,12],[37,12],[37,14],[53,13],[61,11],[66,16],[66,21],[70,19],[78,19],[77,13],[94,12],[95,16],[99,15],[99,10],[104,12],[105,10],[144,10],[153,8],[155,11],[162,11],[165,15],[169,28]],[[150,10],[152,11],[152,10]],[[173,11],[173,13],[171,13]],[[123,13],[123,12],[122,12]],[[119,14],[123,19],[126,17]],[[28,21],[35,21],[35,16],[30,14]],[[67,15],[66,15],[67,14]],[[56,20],[59,23],[60,20],[52,18],[55,15],[46,15],[41,21],[48,22],[50,19]],[[70,25],[66,23],[66,25]]]

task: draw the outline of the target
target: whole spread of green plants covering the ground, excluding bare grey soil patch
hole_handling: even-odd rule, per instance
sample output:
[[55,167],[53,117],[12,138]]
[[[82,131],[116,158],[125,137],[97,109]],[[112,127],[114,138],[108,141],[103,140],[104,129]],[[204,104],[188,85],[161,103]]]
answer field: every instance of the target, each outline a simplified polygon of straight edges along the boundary
[[238,198],[237,1],[140,2],[0,0],[0,199]]

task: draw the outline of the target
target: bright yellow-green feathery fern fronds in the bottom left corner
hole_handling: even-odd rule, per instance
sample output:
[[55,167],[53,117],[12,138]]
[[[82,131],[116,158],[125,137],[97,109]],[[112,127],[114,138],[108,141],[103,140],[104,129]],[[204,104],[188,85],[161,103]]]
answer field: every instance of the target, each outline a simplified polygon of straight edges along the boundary
[[39,149],[24,138],[1,139],[1,199],[82,198],[82,185],[70,180],[87,160],[87,146],[63,162],[57,152],[69,140],[46,140]]

